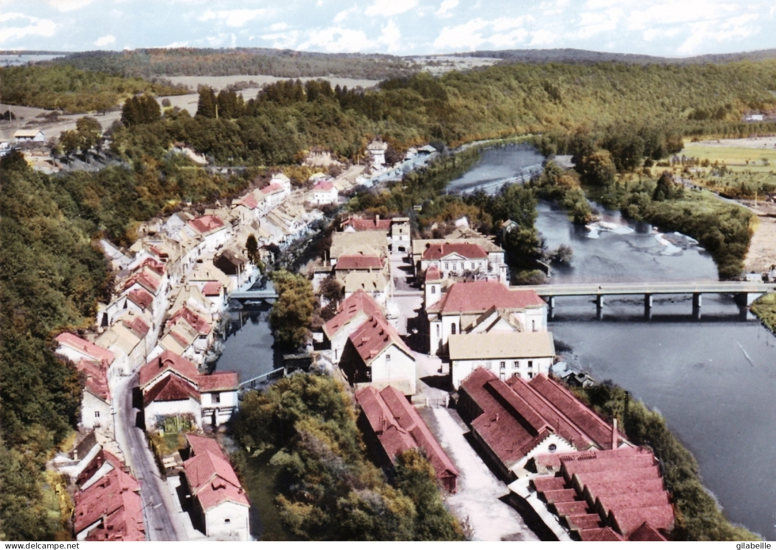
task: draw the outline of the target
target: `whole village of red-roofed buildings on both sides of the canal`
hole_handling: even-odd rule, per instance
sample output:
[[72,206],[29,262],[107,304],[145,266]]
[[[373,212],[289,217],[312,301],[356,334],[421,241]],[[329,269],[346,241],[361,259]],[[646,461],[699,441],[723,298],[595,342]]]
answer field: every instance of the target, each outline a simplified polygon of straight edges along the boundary
[[[547,304],[509,285],[494,237],[465,218],[441,238],[421,239],[407,217],[324,215],[352,186],[376,185],[437,154],[411,150],[386,167],[385,150],[369,145],[369,177],[320,173],[292,189],[278,173],[204,212],[151,220],[129,249],[102,241],[116,273],[112,298],[92,330],[64,332],[55,343],[86,380],[78,441],[52,462],[73,485],[77,540],[146,540],[147,508],[162,503],[184,518],[189,540],[252,540],[251,495],[217,435],[228,432],[241,395],[262,385],[206,365],[231,297],[260,282],[259,264],[272,265],[323,222],[333,227],[331,247],[309,276],[319,293],[327,280],[342,292],[321,303],[334,317],[313,333],[305,368],[348,389],[377,465],[390,472],[397,455],[418,448],[443,491],[459,491],[469,465],[452,460],[421,414],[451,407],[504,482],[492,498],[508,494],[542,540],[670,538],[674,507],[655,456],[570,391],[581,382],[556,365]],[[133,435],[136,426],[145,439]],[[163,434],[184,434],[182,445],[165,449]],[[158,476],[140,460],[151,452],[165,479],[162,502],[140,496]]]

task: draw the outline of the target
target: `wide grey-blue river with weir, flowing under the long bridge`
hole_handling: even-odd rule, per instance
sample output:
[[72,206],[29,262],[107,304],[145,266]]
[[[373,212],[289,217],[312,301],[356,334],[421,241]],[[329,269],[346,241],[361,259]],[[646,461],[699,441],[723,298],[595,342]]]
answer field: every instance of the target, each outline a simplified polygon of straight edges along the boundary
[[[449,189],[493,191],[489,184],[532,167],[537,155],[528,146],[487,150]],[[546,244],[568,244],[574,254],[551,282],[716,280],[714,262],[694,241],[598,209],[604,223],[585,228],[539,204],[536,226]],[[641,299],[610,298],[598,315],[592,299],[560,298],[549,327],[570,346],[572,366],[659,410],[698,459],[726,516],[773,540],[776,337],[728,296],[703,296],[701,313],[693,317],[683,296],[654,299],[650,317]]]

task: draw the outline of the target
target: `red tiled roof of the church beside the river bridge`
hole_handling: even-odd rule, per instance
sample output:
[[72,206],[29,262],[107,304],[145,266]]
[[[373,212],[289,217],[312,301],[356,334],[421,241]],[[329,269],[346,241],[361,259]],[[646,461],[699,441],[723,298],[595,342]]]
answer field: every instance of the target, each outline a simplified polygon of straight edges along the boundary
[[491,308],[522,310],[526,307],[545,306],[544,300],[533,290],[510,290],[501,282],[456,282],[445,295],[428,308],[429,313],[483,313]]

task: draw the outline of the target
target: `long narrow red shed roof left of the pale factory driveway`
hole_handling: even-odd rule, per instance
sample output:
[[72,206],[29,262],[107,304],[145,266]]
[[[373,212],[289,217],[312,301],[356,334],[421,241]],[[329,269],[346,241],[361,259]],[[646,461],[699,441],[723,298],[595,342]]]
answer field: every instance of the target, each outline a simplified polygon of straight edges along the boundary
[[459,472],[428,426],[404,395],[393,386],[382,391],[372,386],[355,394],[369,425],[391,460],[411,448],[422,448],[437,477],[458,476]]

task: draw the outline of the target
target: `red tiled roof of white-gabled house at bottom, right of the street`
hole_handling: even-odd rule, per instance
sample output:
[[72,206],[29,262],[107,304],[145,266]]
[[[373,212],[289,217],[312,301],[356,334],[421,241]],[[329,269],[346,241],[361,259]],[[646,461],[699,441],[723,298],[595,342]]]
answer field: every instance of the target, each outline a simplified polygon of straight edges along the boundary
[[248,506],[240,481],[223,453],[206,450],[184,462],[183,470],[203,511],[227,501]]

